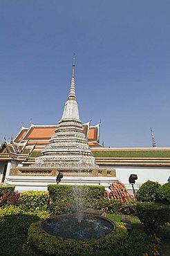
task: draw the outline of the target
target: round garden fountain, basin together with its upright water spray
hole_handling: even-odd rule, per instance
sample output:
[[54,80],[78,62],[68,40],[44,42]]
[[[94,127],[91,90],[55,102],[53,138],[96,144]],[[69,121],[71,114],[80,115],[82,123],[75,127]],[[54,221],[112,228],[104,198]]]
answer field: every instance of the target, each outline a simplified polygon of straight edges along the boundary
[[94,239],[108,235],[115,230],[115,223],[97,214],[84,213],[86,210],[86,186],[73,187],[74,214],[61,214],[46,219],[41,230],[48,235],[64,239]]

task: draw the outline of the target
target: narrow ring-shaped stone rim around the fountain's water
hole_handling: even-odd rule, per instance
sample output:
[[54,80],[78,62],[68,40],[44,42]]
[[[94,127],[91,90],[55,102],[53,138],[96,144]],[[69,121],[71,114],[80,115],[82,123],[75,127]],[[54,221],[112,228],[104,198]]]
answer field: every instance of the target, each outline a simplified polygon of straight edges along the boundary
[[[44,230],[43,228],[43,225],[44,223],[46,223],[49,219],[59,219],[59,217],[68,217],[68,216],[73,216],[73,215],[76,215],[75,213],[64,213],[64,214],[59,214],[59,215],[51,215],[48,219],[45,219],[45,221],[43,221],[40,225],[40,228],[41,228],[41,231],[43,231],[44,233],[46,233],[47,235],[51,235],[49,234],[48,232],[46,232],[46,230]],[[105,221],[108,221],[110,222],[112,225],[113,225],[113,230],[111,230],[111,232],[108,232],[108,234],[106,235],[110,235],[112,232],[115,232],[116,230],[116,225],[115,225],[115,222],[112,221],[111,219],[108,219],[106,217],[103,217],[99,214],[92,214],[92,213],[84,213],[84,215],[86,216],[94,216],[94,217],[97,217],[98,219],[104,219]],[[102,236],[102,237],[106,237],[106,235]],[[52,235],[53,237],[56,237],[55,235]],[[99,238],[92,238],[92,239],[100,239],[102,237],[99,237]],[[77,240],[77,241],[81,241],[81,240],[84,240],[84,241],[88,241],[88,240],[91,240],[91,239],[75,239],[75,238],[65,238],[65,237],[56,237],[56,238],[59,238],[59,239],[65,239],[65,240]]]

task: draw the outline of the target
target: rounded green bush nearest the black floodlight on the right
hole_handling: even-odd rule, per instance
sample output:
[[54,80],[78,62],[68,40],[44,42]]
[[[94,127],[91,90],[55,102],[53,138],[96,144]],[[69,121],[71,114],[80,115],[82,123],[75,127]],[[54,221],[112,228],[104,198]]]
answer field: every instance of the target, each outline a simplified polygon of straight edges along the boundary
[[142,184],[139,190],[136,192],[138,201],[140,202],[153,202],[157,199],[158,189],[160,183],[154,181],[147,181]]

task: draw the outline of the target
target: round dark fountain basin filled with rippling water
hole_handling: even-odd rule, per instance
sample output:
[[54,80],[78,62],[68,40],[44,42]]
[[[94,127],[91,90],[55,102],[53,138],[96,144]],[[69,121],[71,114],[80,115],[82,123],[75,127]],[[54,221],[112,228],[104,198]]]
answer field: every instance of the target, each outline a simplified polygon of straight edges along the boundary
[[93,239],[113,232],[115,223],[93,214],[84,214],[82,222],[78,223],[76,214],[62,214],[46,219],[41,230],[64,239]]

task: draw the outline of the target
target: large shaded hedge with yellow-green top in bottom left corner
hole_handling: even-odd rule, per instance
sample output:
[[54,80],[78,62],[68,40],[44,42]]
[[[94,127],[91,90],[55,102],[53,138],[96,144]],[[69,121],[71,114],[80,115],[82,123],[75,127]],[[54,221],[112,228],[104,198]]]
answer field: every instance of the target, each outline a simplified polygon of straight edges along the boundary
[[21,206],[8,205],[0,209],[0,255],[32,256],[39,255],[26,246],[28,228],[33,222],[47,219],[48,212],[24,212]]

